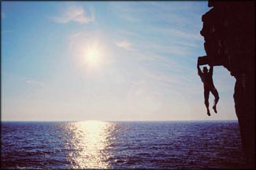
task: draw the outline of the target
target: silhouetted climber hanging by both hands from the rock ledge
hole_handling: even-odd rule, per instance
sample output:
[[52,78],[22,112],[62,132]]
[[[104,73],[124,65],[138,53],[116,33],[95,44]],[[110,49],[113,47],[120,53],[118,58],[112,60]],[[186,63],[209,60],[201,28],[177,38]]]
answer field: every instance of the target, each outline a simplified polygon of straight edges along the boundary
[[210,66],[209,71],[208,71],[207,67],[203,67],[202,71],[201,71],[198,63],[197,63],[197,67],[198,67],[198,75],[200,76],[200,78],[203,82],[207,114],[208,114],[208,116],[210,116],[210,110],[209,110],[209,94],[210,94],[210,92],[212,92],[213,96],[215,97],[214,104],[213,104],[213,110],[215,113],[217,113],[216,105],[217,105],[218,100],[220,99],[217,89],[213,85],[213,66]]

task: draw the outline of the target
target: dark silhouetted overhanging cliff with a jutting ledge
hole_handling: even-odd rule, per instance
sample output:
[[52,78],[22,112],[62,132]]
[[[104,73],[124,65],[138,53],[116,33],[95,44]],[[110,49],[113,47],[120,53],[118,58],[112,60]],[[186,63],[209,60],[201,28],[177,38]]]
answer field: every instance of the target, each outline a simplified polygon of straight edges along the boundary
[[208,1],[202,15],[206,55],[201,63],[224,66],[236,78],[235,109],[247,168],[254,168],[254,1]]

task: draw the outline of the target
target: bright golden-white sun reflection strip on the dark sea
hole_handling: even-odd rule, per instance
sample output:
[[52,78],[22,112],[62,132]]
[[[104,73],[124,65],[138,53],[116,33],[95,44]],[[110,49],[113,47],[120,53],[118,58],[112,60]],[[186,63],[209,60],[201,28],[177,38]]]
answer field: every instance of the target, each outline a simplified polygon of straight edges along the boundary
[[69,124],[72,139],[69,145],[71,168],[109,168],[108,152],[114,124],[103,121],[80,121]]

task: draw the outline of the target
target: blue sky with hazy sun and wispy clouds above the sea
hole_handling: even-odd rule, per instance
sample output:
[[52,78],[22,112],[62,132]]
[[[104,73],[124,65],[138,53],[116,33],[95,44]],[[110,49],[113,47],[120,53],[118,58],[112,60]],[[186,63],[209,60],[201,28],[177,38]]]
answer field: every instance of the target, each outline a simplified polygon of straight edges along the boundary
[[237,120],[222,66],[206,114],[207,1],[1,3],[2,121]]

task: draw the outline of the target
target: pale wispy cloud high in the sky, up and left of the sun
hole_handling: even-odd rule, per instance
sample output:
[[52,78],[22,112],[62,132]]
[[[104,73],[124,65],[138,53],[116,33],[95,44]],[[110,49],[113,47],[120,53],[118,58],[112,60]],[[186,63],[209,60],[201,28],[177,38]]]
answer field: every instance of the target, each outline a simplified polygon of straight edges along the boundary
[[53,17],[53,20],[57,23],[66,24],[71,21],[77,22],[80,24],[88,24],[95,20],[94,13],[91,10],[91,15],[87,16],[86,11],[82,6],[71,5],[63,13],[61,16]]

